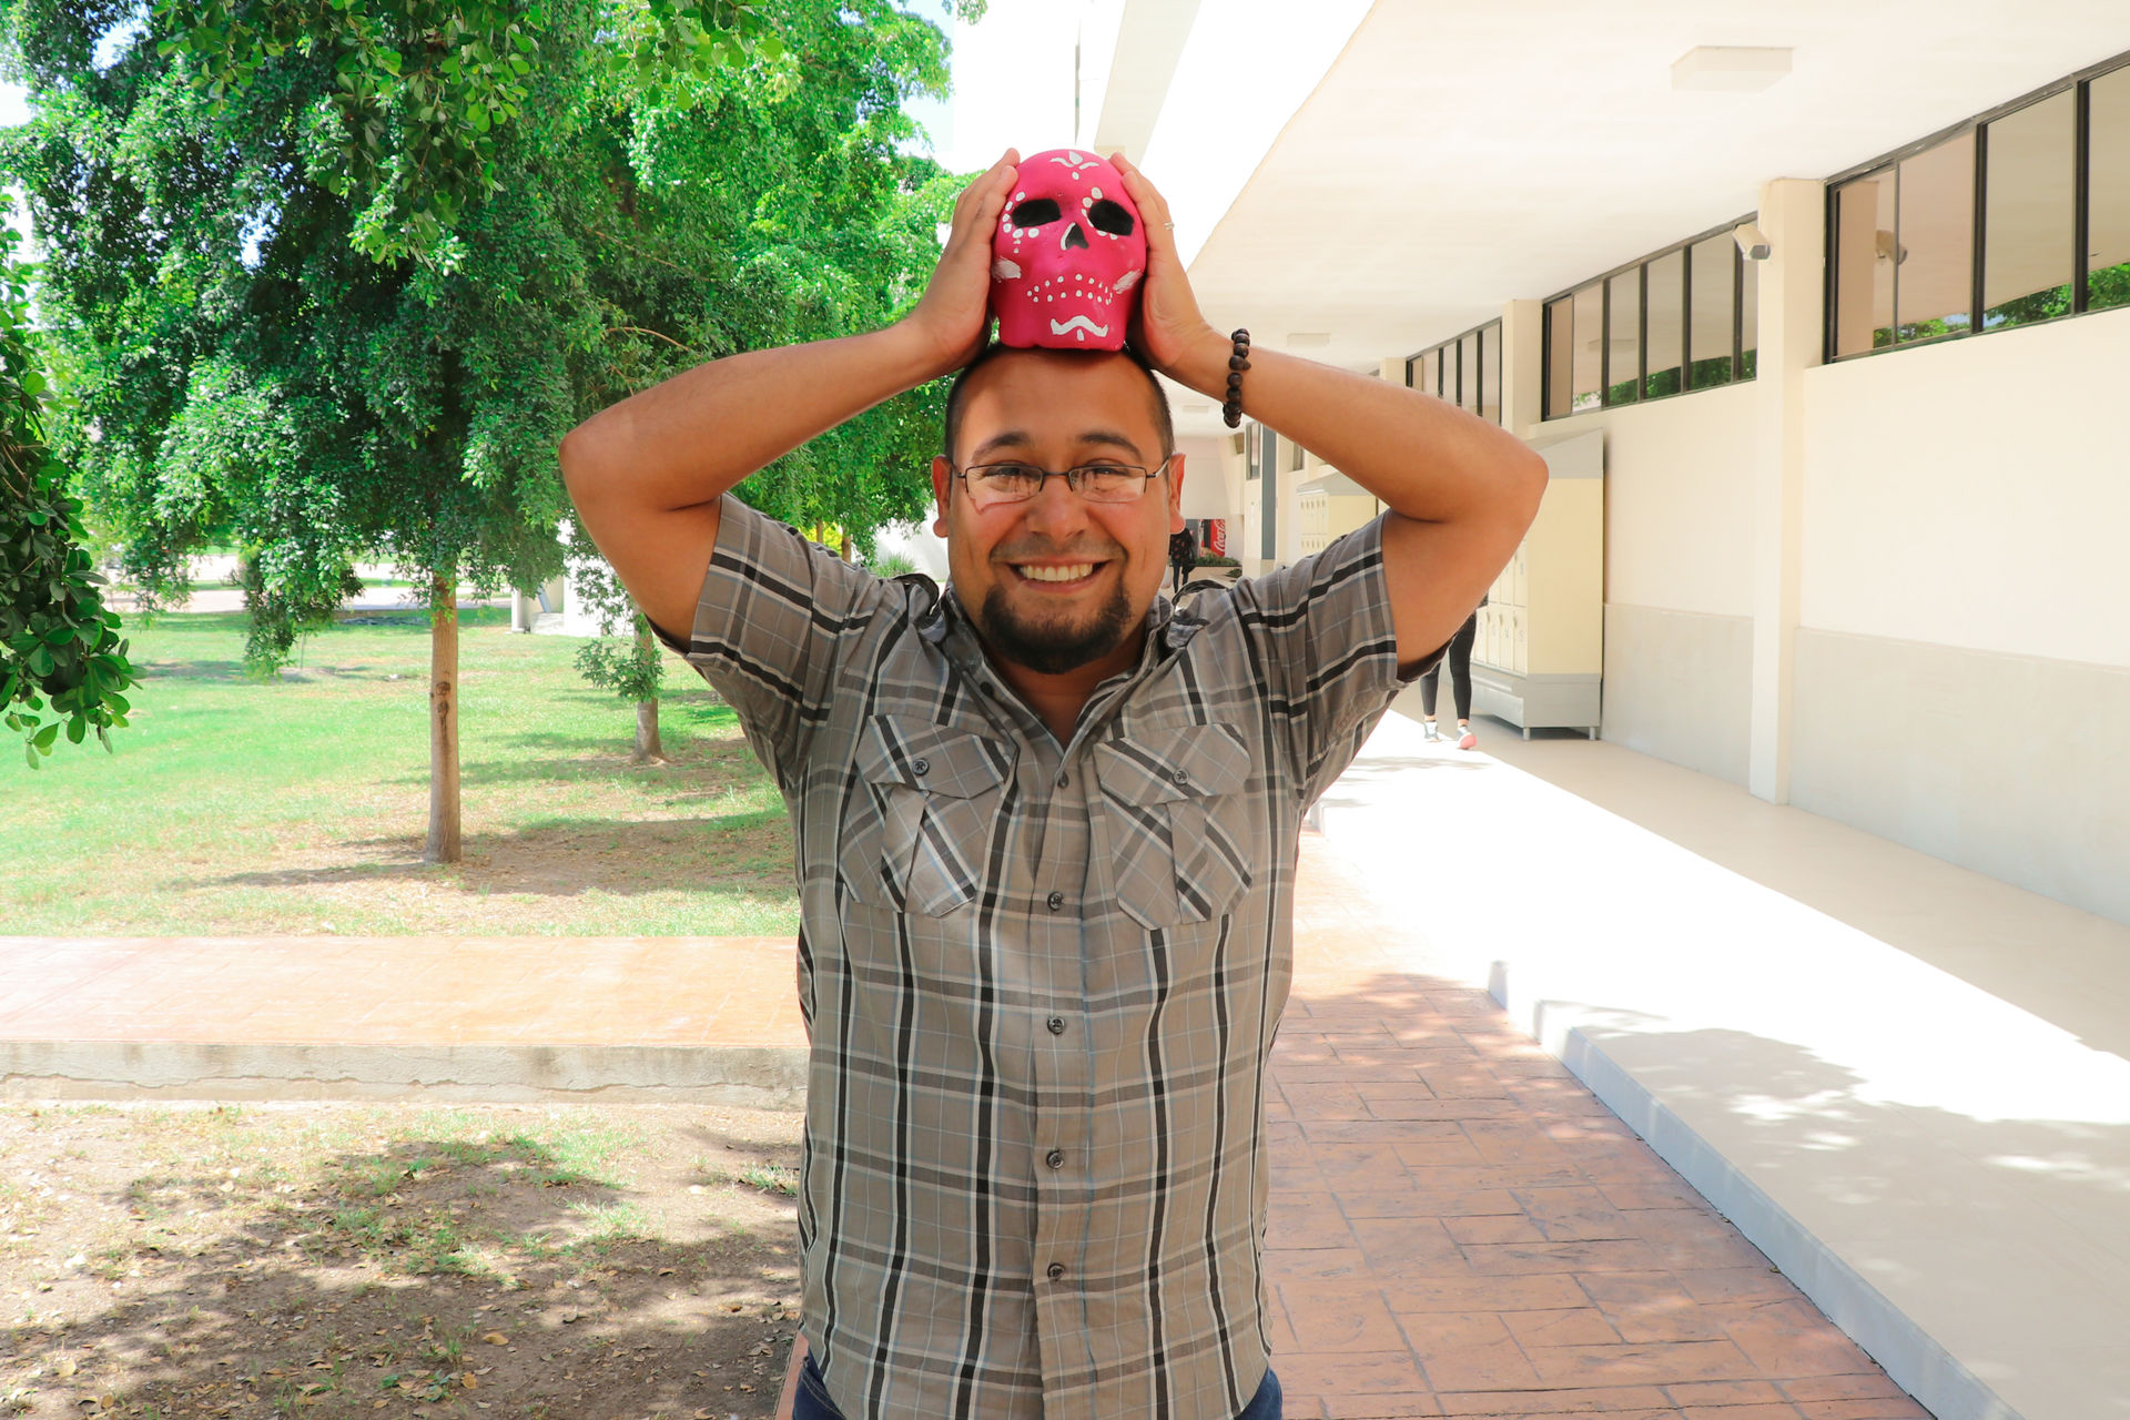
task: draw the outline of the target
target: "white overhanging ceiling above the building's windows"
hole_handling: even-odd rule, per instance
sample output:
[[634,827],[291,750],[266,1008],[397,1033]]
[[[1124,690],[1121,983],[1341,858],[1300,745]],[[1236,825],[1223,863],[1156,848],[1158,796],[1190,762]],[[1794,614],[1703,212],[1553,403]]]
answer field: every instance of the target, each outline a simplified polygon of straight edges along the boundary
[[[1791,72],[1674,89],[1702,45]],[[1216,326],[1374,370],[2126,49],[2124,0],[1214,0],[1144,166]]]

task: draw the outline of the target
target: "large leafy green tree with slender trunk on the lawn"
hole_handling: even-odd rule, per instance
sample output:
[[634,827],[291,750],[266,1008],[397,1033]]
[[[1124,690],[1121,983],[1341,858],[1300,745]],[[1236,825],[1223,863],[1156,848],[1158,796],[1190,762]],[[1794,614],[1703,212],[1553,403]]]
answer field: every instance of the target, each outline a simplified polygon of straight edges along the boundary
[[[34,115],[9,177],[55,253],[60,430],[151,598],[226,526],[249,660],[330,617],[349,562],[432,611],[430,832],[458,856],[456,602],[560,566],[554,449],[699,360],[914,300],[952,185],[895,153],[944,83],[888,0],[164,0],[98,66],[113,0],[13,0]],[[786,517],[922,507],[873,411],[760,485]]]

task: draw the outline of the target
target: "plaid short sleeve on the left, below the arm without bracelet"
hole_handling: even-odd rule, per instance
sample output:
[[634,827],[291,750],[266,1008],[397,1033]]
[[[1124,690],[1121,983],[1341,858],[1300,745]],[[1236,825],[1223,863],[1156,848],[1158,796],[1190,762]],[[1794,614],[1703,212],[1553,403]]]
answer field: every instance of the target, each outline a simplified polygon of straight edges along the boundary
[[786,796],[829,720],[839,656],[886,588],[724,494],[688,645],[660,637],[733,707]]

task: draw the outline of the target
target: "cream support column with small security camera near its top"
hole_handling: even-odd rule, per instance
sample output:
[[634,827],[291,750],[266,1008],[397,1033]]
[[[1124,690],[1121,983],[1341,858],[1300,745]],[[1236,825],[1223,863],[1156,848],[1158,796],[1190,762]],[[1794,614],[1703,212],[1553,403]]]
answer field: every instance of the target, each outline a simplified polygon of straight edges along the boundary
[[1747,788],[1789,803],[1791,666],[1804,511],[1804,370],[1825,345],[1823,183],[1776,179],[1759,192],[1759,368],[1753,466],[1753,720]]

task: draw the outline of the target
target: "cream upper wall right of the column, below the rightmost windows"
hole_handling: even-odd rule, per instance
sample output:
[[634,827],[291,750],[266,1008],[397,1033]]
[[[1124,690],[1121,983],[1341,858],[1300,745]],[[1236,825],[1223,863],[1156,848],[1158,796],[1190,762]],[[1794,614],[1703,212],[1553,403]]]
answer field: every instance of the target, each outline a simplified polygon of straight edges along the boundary
[[2130,666],[2130,311],[1806,373],[1800,626]]

